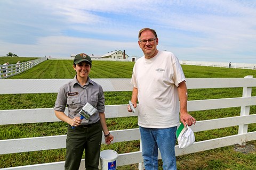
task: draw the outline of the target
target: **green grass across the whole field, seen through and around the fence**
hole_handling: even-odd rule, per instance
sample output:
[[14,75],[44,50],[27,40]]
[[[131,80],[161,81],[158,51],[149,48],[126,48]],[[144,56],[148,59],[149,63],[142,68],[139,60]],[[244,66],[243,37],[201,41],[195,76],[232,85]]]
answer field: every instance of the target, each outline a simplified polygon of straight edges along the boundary
[[[1,57],[0,57],[1,58]],[[1,61],[1,60],[0,60]],[[10,63],[10,62],[9,62]],[[15,62],[14,62],[15,63]],[[73,61],[47,60],[22,74],[10,79],[72,79],[75,71]],[[91,78],[131,78],[132,62],[93,61]],[[229,69],[219,67],[182,65],[186,78],[243,78],[246,75],[256,77],[255,70]],[[241,97],[242,88],[224,89],[189,89],[188,100],[201,100],[213,98]],[[127,104],[131,98],[131,91],[105,92],[106,105]],[[252,96],[256,96],[253,88]],[[26,108],[52,108],[57,94],[16,94],[0,95],[0,109],[26,109]],[[250,109],[251,114],[256,113],[256,106]],[[240,114],[240,108],[214,109],[210,111],[191,112],[197,121],[210,120],[221,117],[231,117]],[[138,128],[137,117],[108,118],[109,130]],[[238,127],[223,128],[196,132],[196,141],[225,137],[237,134]],[[0,125],[0,140],[29,137],[42,137],[49,135],[66,134],[67,124],[63,122],[32,123],[17,125]],[[256,131],[256,123],[249,125],[248,131]],[[139,151],[139,141],[117,142],[113,145],[102,145],[102,149],[114,149],[118,154]],[[228,146],[209,151],[197,152],[177,157],[178,169],[256,169],[256,141],[248,142],[252,146],[247,151],[237,151],[237,146]],[[253,149],[254,146],[254,149]],[[0,155],[0,167],[32,165],[65,160],[66,149],[54,149],[18,154]],[[162,161],[159,160],[159,165]],[[118,167],[118,170],[137,169],[138,165]],[[161,169],[161,167],[159,167]]]

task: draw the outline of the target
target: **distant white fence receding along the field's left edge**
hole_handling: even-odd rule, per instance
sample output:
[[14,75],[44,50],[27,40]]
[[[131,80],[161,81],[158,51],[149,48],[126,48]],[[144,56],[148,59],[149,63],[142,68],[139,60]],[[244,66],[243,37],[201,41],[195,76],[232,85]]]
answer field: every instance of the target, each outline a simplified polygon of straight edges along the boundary
[[[17,64],[0,65],[0,79],[6,79],[13,75],[20,74],[28,69],[31,69],[37,64],[42,63],[45,60],[46,58],[44,57],[44,58],[38,58],[36,60],[22,62],[19,65]],[[7,69],[4,69],[3,67],[7,67]],[[6,70],[6,72],[3,72],[4,70]]]

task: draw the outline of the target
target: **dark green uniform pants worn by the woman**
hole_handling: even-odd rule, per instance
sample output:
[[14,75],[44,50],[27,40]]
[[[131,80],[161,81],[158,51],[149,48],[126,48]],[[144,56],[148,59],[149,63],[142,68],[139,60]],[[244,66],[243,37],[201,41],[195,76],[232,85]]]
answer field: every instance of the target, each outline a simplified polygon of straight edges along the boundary
[[84,150],[86,170],[99,169],[101,140],[100,121],[89,126],[77,126],[75,129],[71,129],[69,125],[66,139],[65,169],[78,170]]

